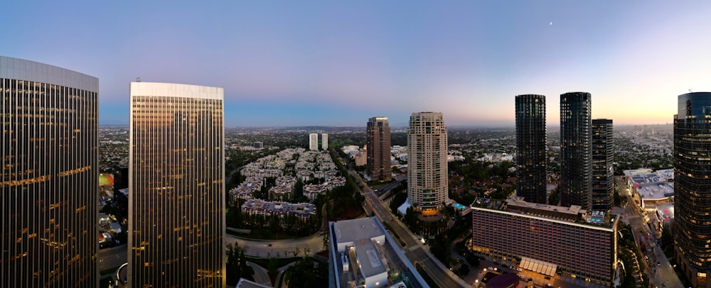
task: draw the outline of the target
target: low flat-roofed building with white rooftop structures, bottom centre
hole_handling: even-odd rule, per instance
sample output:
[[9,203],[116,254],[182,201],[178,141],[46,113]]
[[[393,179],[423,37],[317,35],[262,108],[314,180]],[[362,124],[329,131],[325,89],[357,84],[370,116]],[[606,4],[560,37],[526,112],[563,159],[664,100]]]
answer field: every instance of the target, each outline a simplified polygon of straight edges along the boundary
[[330,287],[429,287],[378,218],[328,222]]

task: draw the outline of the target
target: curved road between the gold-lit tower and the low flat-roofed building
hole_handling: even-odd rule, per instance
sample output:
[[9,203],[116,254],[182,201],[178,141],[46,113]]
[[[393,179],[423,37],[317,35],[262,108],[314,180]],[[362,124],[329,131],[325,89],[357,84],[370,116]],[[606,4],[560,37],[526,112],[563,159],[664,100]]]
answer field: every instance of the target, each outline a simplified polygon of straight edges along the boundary
[[240,248],[245,250],[245,255],[251,257],[287,258],[294,257],[294,252],[298,254],[297,256],[303,256],[314,255],[324,250],[324,236],[319,234],[286,240],[252,240],[227,234],[225,241],[232,243],[232,245],[236,242]]

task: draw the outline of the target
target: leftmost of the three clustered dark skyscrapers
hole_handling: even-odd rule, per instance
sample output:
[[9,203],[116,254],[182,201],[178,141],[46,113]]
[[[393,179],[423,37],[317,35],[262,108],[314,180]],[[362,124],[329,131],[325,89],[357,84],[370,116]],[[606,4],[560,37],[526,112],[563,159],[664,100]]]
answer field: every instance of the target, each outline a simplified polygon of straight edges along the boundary
[[516,96],[516,195],[545,204],[545,96]]

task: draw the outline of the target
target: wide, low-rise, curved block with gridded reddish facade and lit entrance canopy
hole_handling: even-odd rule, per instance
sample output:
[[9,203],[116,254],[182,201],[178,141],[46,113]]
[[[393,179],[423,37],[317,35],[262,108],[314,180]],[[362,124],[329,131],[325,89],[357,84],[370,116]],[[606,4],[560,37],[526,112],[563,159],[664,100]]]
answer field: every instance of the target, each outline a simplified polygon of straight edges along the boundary
[[[483,255],[520,258],[521,267],[555,276],[559,271],[609,285],[617,263],[616,215],[580,206],[479,198],[471,204],[472,249]],[[537,263],[529,265],[529,263]]]

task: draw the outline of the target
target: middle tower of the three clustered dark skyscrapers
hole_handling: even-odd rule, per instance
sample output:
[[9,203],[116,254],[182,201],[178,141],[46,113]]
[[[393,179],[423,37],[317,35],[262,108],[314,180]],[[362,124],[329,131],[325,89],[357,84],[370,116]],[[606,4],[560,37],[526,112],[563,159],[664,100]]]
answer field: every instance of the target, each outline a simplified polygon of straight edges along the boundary
[[591,96],[560,95],[560,206],[592,203]]

